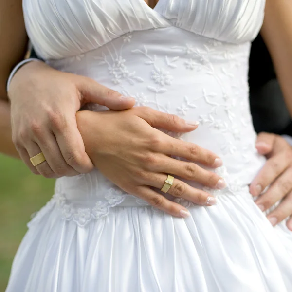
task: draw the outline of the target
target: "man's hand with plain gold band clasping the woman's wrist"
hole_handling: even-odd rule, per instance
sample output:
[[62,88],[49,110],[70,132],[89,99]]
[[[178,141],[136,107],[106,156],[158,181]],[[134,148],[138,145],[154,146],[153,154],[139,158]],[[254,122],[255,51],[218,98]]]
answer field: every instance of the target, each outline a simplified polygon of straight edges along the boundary
[[[35,174],[47,178],[91,171],[76,124],[76,112],[86,103],[125,110],[133,98],[94,80],[31,62],[19,69],[9,87],[13,142],[22,160]],[[43,152],[46,161],[34,167],[30,157]]]

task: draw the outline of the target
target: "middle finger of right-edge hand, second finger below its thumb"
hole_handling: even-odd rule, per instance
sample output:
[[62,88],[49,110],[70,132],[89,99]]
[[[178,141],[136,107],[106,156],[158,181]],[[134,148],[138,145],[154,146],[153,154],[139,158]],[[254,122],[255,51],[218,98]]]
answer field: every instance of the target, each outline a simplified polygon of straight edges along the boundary
[[271,208],[277,201],[284,198],[292,190],[292,167],[280,175],[269,189],[256,200],[262,211]]

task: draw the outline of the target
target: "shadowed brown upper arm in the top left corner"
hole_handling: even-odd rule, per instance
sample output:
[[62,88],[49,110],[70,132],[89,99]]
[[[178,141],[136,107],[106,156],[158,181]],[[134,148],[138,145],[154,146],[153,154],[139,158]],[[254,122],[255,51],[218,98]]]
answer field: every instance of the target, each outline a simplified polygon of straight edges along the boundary
[[7,100],[8,76],[27,49],[22,0],[0,0],[0,40],[0,99]]

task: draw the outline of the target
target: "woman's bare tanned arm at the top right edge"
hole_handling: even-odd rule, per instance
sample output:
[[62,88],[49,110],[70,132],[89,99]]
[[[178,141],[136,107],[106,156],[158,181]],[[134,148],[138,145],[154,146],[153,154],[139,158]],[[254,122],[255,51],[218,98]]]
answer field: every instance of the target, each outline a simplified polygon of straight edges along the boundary
[[292,116],[292,1],[266,0],[262,37]]

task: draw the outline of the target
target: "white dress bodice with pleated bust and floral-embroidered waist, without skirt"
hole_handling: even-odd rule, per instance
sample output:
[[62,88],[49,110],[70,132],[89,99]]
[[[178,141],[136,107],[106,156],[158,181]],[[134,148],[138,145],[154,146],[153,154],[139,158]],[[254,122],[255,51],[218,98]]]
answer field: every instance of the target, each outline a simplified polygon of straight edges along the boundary
[[[52,67],[133,96],[137,106],[200,121],[193,132],[167,134],[219,155],[229,185],[224,191],[234,192],[264,163],[255,148],[247,80],[264,2],[160,0],[153,10],[144,0],[23,0],[23,7],[37,54]],[[145,204],[97,169],[58,179],[54,200],[80,225],[116,205]]]

